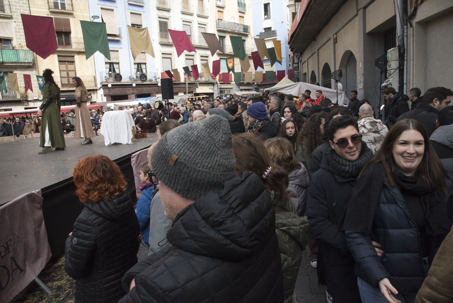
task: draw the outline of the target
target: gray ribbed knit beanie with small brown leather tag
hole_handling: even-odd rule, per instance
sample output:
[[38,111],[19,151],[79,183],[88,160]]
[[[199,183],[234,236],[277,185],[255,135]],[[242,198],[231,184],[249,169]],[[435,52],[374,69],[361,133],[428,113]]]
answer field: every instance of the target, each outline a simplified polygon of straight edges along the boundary
[[158,179],[194,200],[234,178],[235,164],[230,125],[219,115],[165,133],[151,155]]

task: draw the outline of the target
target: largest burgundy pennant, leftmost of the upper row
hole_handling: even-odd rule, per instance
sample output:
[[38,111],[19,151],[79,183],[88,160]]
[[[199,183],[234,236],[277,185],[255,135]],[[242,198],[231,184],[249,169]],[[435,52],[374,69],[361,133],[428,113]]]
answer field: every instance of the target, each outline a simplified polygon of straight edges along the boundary
[[27,48],[46,59],[58,49],[52,17],[20,14]]

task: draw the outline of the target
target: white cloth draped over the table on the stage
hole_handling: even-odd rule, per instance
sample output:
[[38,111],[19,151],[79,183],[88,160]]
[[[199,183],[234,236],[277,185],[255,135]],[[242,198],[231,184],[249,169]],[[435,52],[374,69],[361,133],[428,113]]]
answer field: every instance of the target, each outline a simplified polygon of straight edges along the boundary
[[102,117],[101,134],[106,146],[115,142],[122,144],[132,143],[132,129],[134,119],[128,111],[110,111]]

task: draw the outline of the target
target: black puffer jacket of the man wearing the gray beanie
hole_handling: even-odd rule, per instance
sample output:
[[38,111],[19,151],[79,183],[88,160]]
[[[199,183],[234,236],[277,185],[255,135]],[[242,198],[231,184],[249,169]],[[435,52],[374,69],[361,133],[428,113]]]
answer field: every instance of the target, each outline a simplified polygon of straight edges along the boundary
[[283,275],[269,192],[250,171],[181,210],[173,245],[135,265],[120,303],[278,303]]

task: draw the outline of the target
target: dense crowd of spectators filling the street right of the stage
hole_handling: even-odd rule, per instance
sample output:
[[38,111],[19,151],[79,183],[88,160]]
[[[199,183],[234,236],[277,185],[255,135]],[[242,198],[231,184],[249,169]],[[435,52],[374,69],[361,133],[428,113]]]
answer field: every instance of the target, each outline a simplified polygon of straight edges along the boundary
[[129,108],[158,135],[143,195],[106,156],[76,165],[75,302],[303,302],[307,244],[328,302],[451,302],[453,92],[383,93],[385,122],[355,91]]

